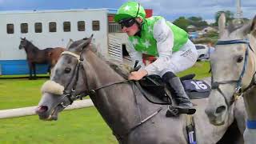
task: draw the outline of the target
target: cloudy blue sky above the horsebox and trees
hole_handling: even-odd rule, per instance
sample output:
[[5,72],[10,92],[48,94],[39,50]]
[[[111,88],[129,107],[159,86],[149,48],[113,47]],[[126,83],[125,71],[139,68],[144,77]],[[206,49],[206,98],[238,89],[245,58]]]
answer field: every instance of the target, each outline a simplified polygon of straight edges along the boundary
[[[118,9],[126,0],[0,0],[0,11],[5,10],[70,10],[70,9]],[[236,0],[137,0],[146,9],[153,9],[154,15],[167,20],[185,16],[202,17],[214,22],[219,10],[236,13]],[[253,18],[256,14],[256,0],[241,0],[242,14]]]

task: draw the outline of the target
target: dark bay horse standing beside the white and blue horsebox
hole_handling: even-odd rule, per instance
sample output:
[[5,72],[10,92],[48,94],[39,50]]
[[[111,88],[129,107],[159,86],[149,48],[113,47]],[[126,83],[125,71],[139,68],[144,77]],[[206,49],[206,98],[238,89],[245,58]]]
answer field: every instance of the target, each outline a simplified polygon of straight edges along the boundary
[[40,50],[26,38],[21,38],[18,48],[19,50],[24,49],[26,51],[26,60],[30,69],[30,79],[36,79],[36,64],[48,64],[48,70],[50,72],[50,69],[56,64],[61,53],[66,50],[61,47]]

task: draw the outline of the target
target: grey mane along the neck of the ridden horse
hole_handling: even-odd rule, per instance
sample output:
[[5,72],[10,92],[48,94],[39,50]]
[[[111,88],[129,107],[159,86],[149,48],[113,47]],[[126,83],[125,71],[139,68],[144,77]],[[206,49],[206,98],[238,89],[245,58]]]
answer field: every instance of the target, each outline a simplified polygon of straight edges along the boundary
[[102,61],[106,62],[110,68],[112,68],[115,72],[122,76],[122,78],[128,78],[130,74],[131,67],[125,64],[121,64],[118,61],[114,61],[113,59],[106,59],[96,48],[94,44],[90,44],[90,50],[94,52],[98,56],[98,58],[102,59]]

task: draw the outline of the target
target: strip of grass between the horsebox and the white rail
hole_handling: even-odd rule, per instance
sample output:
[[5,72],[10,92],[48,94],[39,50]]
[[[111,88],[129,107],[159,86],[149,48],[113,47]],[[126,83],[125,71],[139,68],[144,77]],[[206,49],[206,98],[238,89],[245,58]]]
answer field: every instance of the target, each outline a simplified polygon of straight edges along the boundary
[[29,81],[27,78],[0,79],[0,110],[36,106],[40,100],[40,87],[46,78]]

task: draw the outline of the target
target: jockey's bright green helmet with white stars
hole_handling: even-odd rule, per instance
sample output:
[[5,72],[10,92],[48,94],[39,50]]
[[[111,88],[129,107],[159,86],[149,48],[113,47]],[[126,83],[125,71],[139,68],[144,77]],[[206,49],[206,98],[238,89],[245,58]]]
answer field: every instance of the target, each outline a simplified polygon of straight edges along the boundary
[[114,21],[119,22],[126,18],[146,18],[144,8],[138,2],[126,2],[118,9],[118,13],[114,16]]

